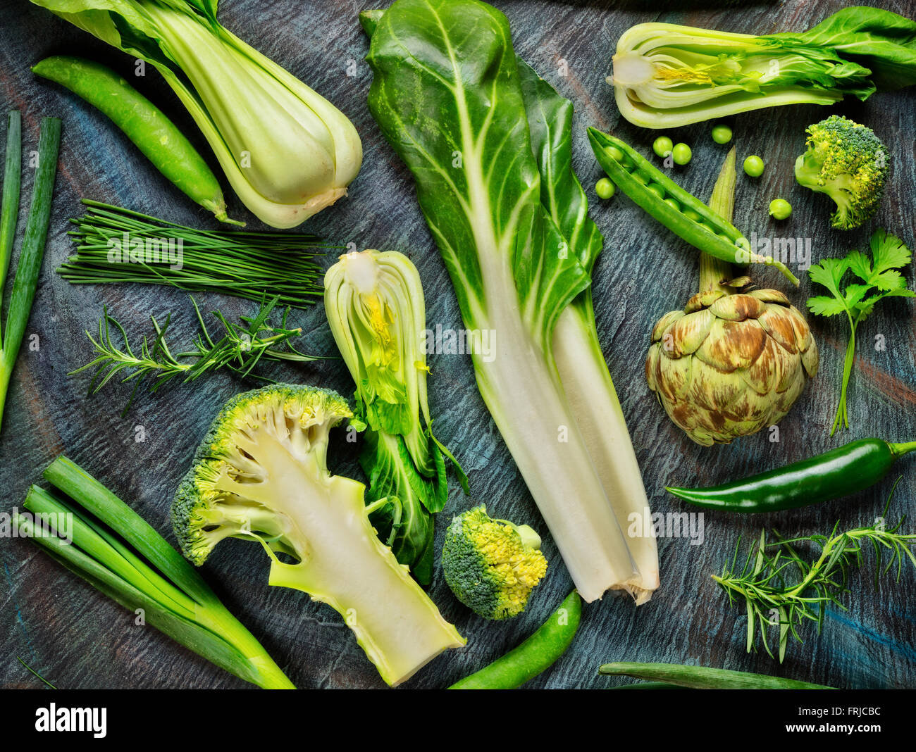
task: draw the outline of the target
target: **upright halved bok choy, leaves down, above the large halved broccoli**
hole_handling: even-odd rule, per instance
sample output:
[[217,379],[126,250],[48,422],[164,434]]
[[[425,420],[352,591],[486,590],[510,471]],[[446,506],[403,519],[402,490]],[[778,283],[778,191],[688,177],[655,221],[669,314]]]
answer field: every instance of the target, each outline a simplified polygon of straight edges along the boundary
[[[426,306],[417,268],[397,251],[346,253],[324,276],[324,309],[356,383],[351,424],[365,427],[360,465],[370,520],[420,585],[432,581],[432,515],[448,500],[445,457],[427,401]],[[387,500],[387,501],[383,501]]]

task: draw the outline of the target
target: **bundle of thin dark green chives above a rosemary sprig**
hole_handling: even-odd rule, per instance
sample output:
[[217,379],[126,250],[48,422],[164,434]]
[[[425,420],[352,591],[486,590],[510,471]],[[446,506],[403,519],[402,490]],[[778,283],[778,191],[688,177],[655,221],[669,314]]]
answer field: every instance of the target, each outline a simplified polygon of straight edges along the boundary
[[[76,255],[57,270],[74,285],[138,282],[258,302],[267,294],[304,308],[324,292],[315,257],[340,248],[315,235],[197,230],[99,201],[82,203],[86,213],[71,220],[75,229],[68,233]],[[180,264],[145,251],[177,252],[179,243]]]

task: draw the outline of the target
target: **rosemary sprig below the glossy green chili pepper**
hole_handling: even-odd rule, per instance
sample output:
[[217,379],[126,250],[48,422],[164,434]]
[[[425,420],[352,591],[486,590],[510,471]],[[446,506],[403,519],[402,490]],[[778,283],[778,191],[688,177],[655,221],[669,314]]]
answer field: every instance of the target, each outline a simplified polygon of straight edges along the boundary
[[[785,657],[790,635],[799,642],[803,641],[799,627],[805,620],[816,622],[820,634],[828,605],[834,604],[845,610],[840,597],[848,592],[849,570],[861,564],[862,552],[867,544],[871,544],[877,558],[876,584],[878,576],[887,574],[894,564],[897,564],[897,580],[900,581],[906,558],[916,566],[916,554],[910,548],[916,545],[916,534],[897,532],[905,518],[900,518],[894,527],[888,529],[884,523],[887,512],[888,506],[875,524],[846,532],[838,532],[840,523],[837,522],[830,535],[808,535],[786,540],[774,531],[777,540],[768,543],[767,532],[761,531],[757,545],[747,553],[743,564],[739,564],[739,537],[732,561],[725,564],[721,575],[712,576],[728,594],[729,603],[734,604],[741,599],[745,602],[747,652],[755,648],[759,633],[764,649],[770,658],[774,657],[767,640],[769,627],[779,627],[780,662]],[[796,551],[793,545],[796,543],[812,543],[820,547],[821,554],[813,563],[808,563]],[[882,567],[883,553],[888,554],[888,561]]]

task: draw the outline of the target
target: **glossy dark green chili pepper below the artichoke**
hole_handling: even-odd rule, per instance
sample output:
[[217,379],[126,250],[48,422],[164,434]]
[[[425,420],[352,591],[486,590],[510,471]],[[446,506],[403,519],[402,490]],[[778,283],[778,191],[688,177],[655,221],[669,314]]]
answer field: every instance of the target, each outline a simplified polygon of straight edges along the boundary
[[710,510],[791,510],[867,489],[884,478],[899,457],[913,450],[916,441],[890,444],[882,439],[859,439],[823,455],[721,486],[668,490]]

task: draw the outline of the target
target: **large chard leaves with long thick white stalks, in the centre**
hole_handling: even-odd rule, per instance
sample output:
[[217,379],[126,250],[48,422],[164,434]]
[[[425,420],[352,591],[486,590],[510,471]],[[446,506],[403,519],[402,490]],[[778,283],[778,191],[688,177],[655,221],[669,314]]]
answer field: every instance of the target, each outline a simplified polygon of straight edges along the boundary
[[526,99],[490,5],[398,0],[364,27],[370,110],[414,174],[464,326],[492,333],[493,357],[472,355],[477,384],[573,582],[586,601],[648,600],[657,554],[623,532],[646,497],[585,292],[601,242],[569,165],[570,111],[552,90],[531,99],[545,92],[536,76]]

